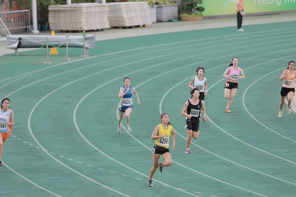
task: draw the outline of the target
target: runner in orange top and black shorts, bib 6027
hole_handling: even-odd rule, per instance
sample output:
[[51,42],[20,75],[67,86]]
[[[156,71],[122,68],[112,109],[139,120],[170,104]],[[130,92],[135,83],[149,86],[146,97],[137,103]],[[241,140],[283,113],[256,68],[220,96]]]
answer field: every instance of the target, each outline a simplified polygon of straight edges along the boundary
[[296,70],[294,70],[294,68],[295,68],[295,62],[290,61],[288,68],[285,69],[282,75],[280,76],[280,80],[284,79],[284,82],[281,89],[280,112],[278,115],[279,118],[281,118],[283,115],[283,107],[284,107],[285,99],[287,96],[288,96],[287,110],[288,110],[288,114],[291,114],[290,105],[295,93],[294,81],[295,81]]

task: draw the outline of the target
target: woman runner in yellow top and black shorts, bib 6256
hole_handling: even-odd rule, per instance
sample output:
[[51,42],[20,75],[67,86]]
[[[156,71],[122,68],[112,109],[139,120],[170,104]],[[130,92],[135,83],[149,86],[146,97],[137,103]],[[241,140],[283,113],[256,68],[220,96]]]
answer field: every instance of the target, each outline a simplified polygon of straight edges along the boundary
[[[148,186],[152,187],[152,176],[154,175],[158,165],[158,172],[162,173],[163,166],[172,165],[172,157],[169,151],[169,139],[172,133],[173,135],[173,151],[175,150],[176,135],[174,128],[169,122],[170,117],[167,113],[160,115],[161,124],[157,125],[152,133],[151,139],[155,140],[154,147],[152,148],[153,166],[150,169],[150,176],[148,180]],[[159,163],[160,155],[162,155],[164,162]]]

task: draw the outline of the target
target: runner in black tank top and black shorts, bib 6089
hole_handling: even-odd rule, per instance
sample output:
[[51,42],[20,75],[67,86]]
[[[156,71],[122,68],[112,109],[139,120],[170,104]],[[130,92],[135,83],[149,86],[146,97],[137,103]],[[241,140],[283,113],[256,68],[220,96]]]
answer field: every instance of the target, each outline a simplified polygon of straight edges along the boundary
[[[197,139],[199,135],[199,121],[200,121],[200,113],[202,112],[202,118],[204,123],[207,122],[206,119],[206,108],[203,100],[198,99],[199,90],[198,88],[193,88],[190,92],[191,99],[187,100],[182,109],[182,115],[186,117],[186,125],[185,129],[187,130],[187,138],[186,138],[186,154],[190,153],[190,143],[191,138]],[[187,113],[186,113],[186,112]]]

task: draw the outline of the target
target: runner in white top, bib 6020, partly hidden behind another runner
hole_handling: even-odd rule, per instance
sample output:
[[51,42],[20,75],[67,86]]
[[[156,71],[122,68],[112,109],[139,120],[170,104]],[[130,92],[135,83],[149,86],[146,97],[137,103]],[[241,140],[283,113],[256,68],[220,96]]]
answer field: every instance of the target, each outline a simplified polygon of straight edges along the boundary
[[198,88],[200,94],[199,98],[201,100],[205,100],[205,96],[207,95],[208,81],[203,75],[205,73],[205,69],[203,67],[198,67],[196,69],[197,75],[191,78],[188,87],[190,89]]

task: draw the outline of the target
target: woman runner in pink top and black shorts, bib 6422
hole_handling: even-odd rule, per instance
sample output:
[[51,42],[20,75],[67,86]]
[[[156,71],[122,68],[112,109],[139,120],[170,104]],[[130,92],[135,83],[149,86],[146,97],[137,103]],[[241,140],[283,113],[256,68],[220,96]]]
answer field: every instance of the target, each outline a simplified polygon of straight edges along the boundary
[[[238,79],[244,79],[245,74],[243,69],[237,66],[238,65],[238,58],[233,58],[229,67],[223,73],[223,77],[227,78],[224,86],[224,98],[228,99],[227,106],[225,111],[230,113],[229,107],[232,104],[234,96],[238,89]],[[228,75],[227,75],[228,74]],[[241,74],[241,76],[239,76]]]

